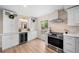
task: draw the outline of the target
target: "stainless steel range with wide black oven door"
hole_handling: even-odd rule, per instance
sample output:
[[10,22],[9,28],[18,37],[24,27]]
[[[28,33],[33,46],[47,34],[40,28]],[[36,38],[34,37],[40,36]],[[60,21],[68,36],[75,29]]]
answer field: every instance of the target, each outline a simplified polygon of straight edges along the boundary
[[55,48],[57,52],[63,52],[63,33],[50,32],[48,34],[48,44]]

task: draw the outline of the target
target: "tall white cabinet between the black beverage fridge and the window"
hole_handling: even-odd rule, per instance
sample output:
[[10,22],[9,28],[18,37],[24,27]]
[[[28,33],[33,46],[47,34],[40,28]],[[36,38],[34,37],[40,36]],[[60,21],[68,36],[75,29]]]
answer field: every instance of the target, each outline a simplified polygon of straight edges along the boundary
[[33,40],[35,38],[37,38],[37,23],[38,21],[35,20],[35,22],[33,22],[31,20],[31,17],[28,19],[28,28],[30,29],[30,31],[28,31],[28,41]]

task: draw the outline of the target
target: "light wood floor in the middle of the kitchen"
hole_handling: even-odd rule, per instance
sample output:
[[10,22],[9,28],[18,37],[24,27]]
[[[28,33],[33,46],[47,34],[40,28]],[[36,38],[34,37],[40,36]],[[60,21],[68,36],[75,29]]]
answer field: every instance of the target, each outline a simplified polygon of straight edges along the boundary
[[3,51],[3,53],[55,53],[55,51],[48,48],[44,41],[35,39],[28,43],[9,48]]

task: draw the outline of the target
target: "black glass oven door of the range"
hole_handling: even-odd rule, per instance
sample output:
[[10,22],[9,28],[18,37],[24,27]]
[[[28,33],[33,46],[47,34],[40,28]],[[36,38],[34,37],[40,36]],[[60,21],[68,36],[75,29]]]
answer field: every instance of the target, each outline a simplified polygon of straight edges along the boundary
[[63,49],[63,40],[48,36],[48,43]]

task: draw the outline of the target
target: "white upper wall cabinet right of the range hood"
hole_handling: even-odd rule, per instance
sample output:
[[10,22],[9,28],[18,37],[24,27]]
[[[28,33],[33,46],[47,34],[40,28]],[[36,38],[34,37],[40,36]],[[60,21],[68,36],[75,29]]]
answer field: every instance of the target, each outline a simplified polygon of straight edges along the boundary
[[68,13],[68,25],[79,26],[79,6],[68,9],[67,13]]

